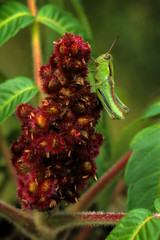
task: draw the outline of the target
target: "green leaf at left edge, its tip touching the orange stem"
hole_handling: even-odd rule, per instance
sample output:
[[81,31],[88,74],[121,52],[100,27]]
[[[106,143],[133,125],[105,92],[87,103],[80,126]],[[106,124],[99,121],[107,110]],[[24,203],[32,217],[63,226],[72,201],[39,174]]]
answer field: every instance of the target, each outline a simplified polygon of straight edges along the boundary
[[26,77],[16,77],[0,84],[0,124],[4,122],[20,103],[28,102],[38,88]]

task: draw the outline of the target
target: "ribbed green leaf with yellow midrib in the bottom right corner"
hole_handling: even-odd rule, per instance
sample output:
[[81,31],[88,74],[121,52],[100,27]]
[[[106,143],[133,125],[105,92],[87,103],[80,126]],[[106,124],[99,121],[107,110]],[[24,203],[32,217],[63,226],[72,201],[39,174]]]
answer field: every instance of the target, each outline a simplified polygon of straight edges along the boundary
[[123,217],[106,240],[159,240],[160,219],[146,209],[134,209]]

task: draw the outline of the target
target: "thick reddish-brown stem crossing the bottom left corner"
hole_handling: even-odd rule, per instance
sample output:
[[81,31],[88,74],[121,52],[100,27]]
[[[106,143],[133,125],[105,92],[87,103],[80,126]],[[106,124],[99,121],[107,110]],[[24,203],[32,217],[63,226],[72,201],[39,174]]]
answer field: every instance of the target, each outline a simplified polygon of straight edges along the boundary
[[37,239],[34,221],[27,212],[0,201],[0,215],[17,226],[26,236]]

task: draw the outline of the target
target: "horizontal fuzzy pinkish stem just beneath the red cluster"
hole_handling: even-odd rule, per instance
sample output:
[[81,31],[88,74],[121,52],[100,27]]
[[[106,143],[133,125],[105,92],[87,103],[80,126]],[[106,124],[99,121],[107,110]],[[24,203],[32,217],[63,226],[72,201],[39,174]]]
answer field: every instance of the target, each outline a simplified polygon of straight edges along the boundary
[[61,212],[48,217],[47,214],[37,213],[36,225],[39,232],[53,238],[59,232],[69,228],[117,224],[125,215],[126,213],[82,212],[66,214]]

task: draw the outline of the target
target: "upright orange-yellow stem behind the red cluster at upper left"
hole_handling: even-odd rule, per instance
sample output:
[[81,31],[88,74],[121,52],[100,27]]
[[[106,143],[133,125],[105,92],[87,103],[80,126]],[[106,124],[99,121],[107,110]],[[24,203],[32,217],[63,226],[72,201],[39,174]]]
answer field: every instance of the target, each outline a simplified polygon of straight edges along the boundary
[[[28,6],[33,16],[37,16],[37,9],[35,0],[28,0]],[[35,82],[40,89],[40,99],[43,98],[43,93],[41,91],[41,78],[39,76],[39,70],[42,65],[41,57],[41,44],[40,44],[40,33],[38,22],[35,21],[32,25],[32,51],[33,51],[33,62],[34,62],[34,75]]]

